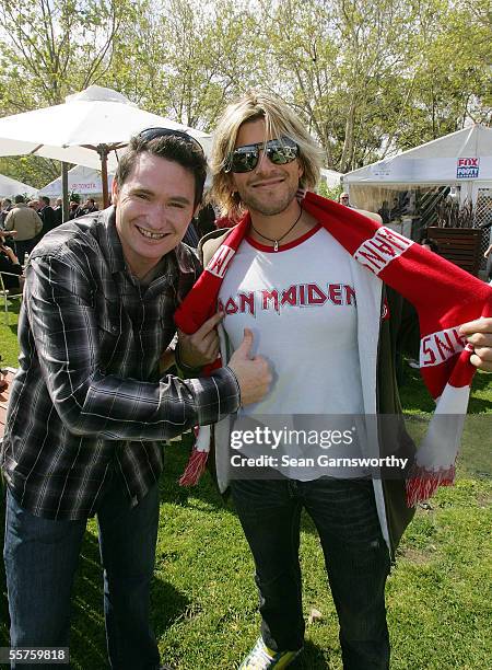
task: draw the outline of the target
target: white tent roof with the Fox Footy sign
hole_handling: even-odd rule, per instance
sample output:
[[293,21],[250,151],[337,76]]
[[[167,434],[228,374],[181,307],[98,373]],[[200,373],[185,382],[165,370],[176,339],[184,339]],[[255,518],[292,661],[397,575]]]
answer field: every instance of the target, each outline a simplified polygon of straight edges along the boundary
[[380,206],[391,190],[438,185],[475,204],[480,189],[492,188],[492,128],[476,124],[349,172],[342,181],[351,201],[363,208]]

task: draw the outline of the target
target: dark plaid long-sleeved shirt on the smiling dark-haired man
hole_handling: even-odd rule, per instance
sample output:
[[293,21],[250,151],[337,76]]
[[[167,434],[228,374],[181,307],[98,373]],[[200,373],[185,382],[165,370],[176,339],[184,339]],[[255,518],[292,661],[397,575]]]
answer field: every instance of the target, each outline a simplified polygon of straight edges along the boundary
[[173,314],[200,273],[183,244],[165,259],[140,286],[127,272],[114,208],[56,228],[32,253],[1,464],[33,513],[92,516],[116,469],[136,505],[162,472],[163,440],[237,409],[229,369],[161,379]]

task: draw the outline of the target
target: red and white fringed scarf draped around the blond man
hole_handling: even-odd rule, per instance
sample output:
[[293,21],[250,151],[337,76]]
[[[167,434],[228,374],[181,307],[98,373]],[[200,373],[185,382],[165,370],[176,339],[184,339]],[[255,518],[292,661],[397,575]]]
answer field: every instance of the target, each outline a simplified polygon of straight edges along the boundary
[[[421,374],[436,401],[435,417],[465,416],[475,367],[472,347],[460,338],[462,323],[492,316],[492,288],[420,244],[380,226],[353,209],[307,193],[303,208],[312,215],[364,267],[409,300],[419,314]],[[247,213],[231,230],[204,272],[176,311],[177,326],[195,333],[216,311],[222,280],[247,235]],[[206,373],[221,366],[218,360]],[[461,421],[462,424],[462,421]],[[443,432],[444,423],[431,420],[407,480],[407,500],[414,506],[427,499],[440,485],[455,477],[460,431]],[[200,435],[201,434],[201,435]],[[210,430],[201,429],[181,485],[196,484],[204,470]]]

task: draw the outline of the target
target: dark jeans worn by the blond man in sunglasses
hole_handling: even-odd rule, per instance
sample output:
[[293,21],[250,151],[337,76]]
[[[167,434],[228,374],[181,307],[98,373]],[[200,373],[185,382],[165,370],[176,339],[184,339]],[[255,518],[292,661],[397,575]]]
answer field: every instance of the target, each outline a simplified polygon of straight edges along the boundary
[[231,489],[255,558],[265,644],[276,651],[303,646],[298,546],[304,507],[325,555],[344,670],[387,670],[389,553],[371,481],[243,480],[232,482]]

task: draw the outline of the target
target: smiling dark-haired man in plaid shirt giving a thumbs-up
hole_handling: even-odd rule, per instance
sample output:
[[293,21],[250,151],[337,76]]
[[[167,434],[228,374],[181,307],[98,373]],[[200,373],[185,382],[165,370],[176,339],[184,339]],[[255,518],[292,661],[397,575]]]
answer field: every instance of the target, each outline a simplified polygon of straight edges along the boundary
[[68,646],[73,575],[96,515],[110,666],[160,668],[149,589],[163,442],[256,402],[270,383],[266,361],[248,356],[250,337],[227,368],[194,374],[216,357],[220,315],[179,340],[189,379],[160,371],[201,269],[180,241],[204,178],[196,140],[144,130],[120,160],[114,206],[56,228],[30,256],[1,451],[12,647]]

